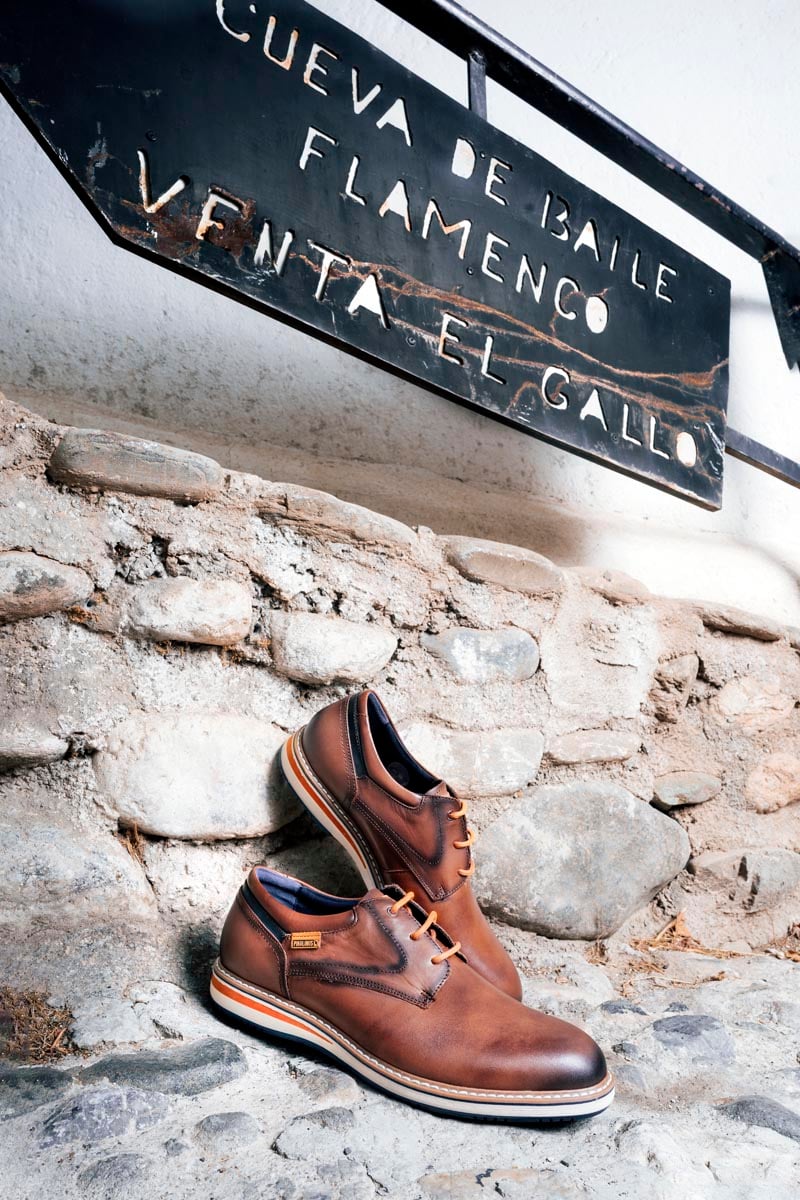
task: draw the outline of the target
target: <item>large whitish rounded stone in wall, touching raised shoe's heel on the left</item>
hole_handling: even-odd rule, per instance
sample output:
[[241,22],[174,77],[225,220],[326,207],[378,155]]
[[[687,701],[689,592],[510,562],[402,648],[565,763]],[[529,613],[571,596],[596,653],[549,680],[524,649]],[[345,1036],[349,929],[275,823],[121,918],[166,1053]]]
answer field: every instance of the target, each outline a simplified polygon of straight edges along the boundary
[[132,716],[92,763],[122,824],[160,838],[255,838],[299,811],[276,755],[285,733],[231,713]]

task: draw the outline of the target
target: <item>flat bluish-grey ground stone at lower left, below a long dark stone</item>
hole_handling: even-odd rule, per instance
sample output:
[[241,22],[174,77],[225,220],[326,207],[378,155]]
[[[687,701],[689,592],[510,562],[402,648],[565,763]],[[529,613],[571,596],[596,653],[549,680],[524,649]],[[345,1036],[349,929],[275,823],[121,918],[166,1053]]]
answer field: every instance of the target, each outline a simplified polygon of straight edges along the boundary
[[42,1146],[97,1142],[149,1129],[170,1110],[166,1096],[136,1088],[91,1087],[64,1100],[42,1127]]

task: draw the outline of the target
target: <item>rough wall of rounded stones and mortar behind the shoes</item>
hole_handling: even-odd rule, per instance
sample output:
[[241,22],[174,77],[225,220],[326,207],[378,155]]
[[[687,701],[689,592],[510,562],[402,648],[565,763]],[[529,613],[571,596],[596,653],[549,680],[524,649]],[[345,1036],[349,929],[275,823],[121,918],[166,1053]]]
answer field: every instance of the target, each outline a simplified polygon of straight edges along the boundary
[[23,976],[54,922],[212,942],[259,859],[356,888],[275,755],[365,684],[470,798],[507,926],[595,940],[684,911],[736,949],[798,920],[799,631],[0,414],[0,918]]

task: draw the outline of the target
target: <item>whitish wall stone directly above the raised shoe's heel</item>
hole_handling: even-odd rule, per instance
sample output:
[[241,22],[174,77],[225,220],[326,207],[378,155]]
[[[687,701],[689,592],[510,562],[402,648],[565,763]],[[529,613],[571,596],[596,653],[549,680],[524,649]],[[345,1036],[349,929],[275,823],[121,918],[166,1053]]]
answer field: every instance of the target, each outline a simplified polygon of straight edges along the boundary
[[271,637],[275,670],[311,684],[368,682],[397,649],[397,637],[383,625],[312,612],[276,612]]

